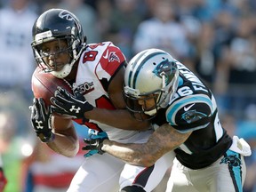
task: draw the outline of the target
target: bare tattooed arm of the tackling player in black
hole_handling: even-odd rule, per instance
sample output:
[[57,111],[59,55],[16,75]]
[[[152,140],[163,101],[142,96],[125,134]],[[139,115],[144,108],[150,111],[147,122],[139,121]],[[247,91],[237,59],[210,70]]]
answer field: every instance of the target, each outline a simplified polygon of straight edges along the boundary
[[104,140],[102,150],[128,164],[151,166],[165,153],[177,148],[188,139],[191,132],[180,133],[169,124],[163,124],[142,144],[123,144]]

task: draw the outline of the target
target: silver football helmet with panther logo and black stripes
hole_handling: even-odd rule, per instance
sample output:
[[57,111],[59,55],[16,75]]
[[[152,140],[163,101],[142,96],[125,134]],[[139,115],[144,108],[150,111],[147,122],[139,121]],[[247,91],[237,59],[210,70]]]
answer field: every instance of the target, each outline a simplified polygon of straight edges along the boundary
[[[124,98],[133,113],[144,113],[152,118],[159,108],[165,108],[178,87],[179,70],[176,60],[159,49],[148,49],[136,54],[128,63],[124,75]],[[143,108],[139,100],[154,98],[155,106]],[[135,116],[136,117],[136,116]]]

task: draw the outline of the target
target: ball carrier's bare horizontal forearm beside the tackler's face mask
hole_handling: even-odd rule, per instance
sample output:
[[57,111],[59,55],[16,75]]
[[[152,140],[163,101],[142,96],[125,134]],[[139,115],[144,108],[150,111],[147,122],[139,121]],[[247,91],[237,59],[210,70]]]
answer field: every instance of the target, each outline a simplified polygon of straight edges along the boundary
[[147,121],[138,121],[126,109],[108,110],[104,108],[94,108],[86,112],[85,117],[93,119],[102,124],[117,127],[124,130],[147,130],[150,126]]

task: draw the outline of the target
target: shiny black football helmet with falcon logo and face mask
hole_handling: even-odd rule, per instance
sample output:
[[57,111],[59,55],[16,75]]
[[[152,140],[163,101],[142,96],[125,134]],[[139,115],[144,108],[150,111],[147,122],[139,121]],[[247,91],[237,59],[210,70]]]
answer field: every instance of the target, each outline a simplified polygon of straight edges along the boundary
[[[86,45],[86,36],[84,36],[80,21],[73,13],[63,9],[50,9],[42,13],[34,23],[32,36],[31,46],[36,64],[43,68],[45,72],[51,72],[53,76],[59,78],[68,76]],[[60,39],[67,41],[68,50],[60,50],[60,52],[68,52],[70,61],[61,70],[57,71],[57,66],[51,68],[48,63],[44,62],[43,58],[50,54],[45,55],[45,52],[42,52],[42,44]],[[60,52],[54,52],[54,55]]]

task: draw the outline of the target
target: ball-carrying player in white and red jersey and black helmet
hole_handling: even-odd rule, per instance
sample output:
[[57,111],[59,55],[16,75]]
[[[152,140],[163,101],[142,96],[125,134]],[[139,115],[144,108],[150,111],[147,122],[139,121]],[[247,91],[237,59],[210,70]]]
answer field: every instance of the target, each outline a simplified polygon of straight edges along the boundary
[[[45,106],[43,99],[34,99],[31,122],[40,140],[57,153],[76,156],[79,146],[72,121],[99,132],[99,137],[106,132],[110,140],[148,140],[154,129],[148,122],[138,122],[125,108],[126,61],[118,47],[111,42],[86,44],[79,20],[62,9],[41,14],[32,33],[31,45],[39,68],[65,79],[74,92],[72,95],[58,89],[51,100],[55,108]],[[107,153],[96,154],[84,160],[68,192],[149,192],[163,179],[172,159],[168,154],[144,167],[124,164]]]

